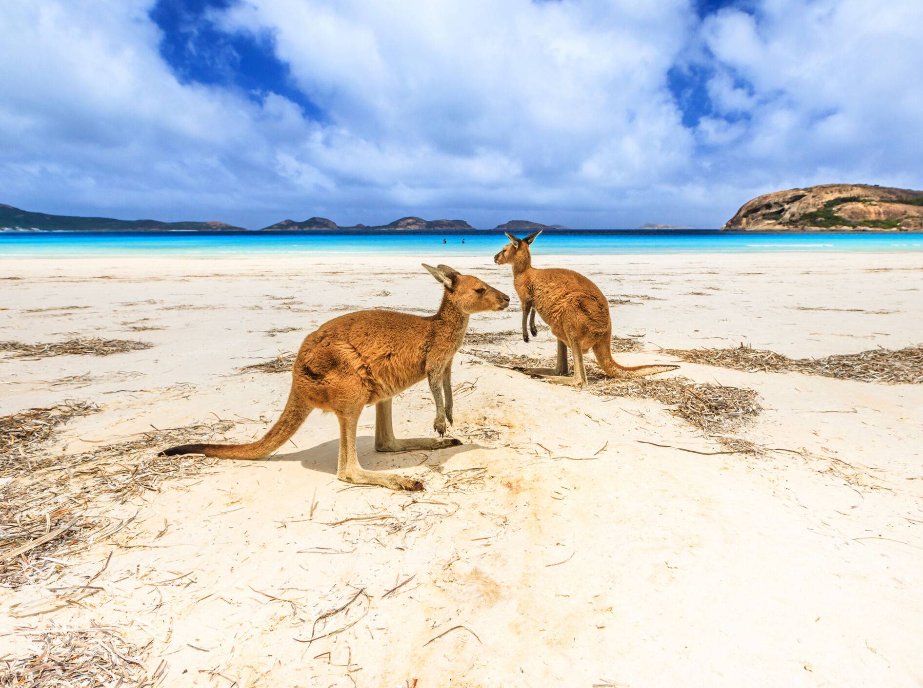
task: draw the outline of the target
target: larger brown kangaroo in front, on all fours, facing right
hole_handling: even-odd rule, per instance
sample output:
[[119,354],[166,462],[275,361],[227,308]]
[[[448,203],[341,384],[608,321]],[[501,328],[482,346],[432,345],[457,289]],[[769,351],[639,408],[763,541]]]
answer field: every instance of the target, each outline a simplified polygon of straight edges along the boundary
[[[359,414],[375,404],[375,449],[379,452],[461,445],[459,440],[443,437],[446,423],[452,422],[452,358],[462,346],[471,314],[502,311],[509,306],[509,296],[476,277],[462,275],[449,266],[423,267],[445,288],[435,315],[359,311],[333,318],[302,342],[294,361],[288,402],[262,439],[246,445],[180,445],[165,449],[161,455],[263,458],[282,446],[311,410],[321,409],[333,411],[340,421],[340,480],[391,490],[422,490],[419,480],[360,466],[355,451]],[[439,439],[396,439],[391,426],[391,397],[425,377],[436,401],[433,428]]]

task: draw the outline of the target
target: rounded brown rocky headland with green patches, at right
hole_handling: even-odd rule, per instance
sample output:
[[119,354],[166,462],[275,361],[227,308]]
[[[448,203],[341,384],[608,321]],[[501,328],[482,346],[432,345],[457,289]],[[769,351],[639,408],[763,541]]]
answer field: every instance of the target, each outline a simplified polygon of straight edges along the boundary
[[722,230],[921,231],[923,191],[869,184],[821,184],[747,201]]

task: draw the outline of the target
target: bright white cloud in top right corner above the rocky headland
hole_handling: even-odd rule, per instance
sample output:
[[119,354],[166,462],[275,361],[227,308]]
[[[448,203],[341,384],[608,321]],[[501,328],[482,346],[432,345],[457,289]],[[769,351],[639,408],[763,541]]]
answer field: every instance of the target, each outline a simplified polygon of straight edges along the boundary
[[[755,16],[706,20],[713,101],[746,119],[733,157],[778,176],[918,187],[918,166],[894,162],[923,156],[921,23],[923,4],[909,0],[767,0]],[[734,89],[732,74],[754,95]]]

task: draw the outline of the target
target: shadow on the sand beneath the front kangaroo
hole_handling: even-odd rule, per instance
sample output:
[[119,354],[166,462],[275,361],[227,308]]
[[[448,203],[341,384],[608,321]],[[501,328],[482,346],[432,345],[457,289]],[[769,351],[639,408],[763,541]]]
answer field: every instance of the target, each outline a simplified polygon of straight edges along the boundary
[[[473,449],[485,449],[483,445],[459,445],[445,449],[412,449],[407,452],[377,452],[375,451],[375,438],[363,435],[355,438],[356,454],[359,463],[367,470],[387,469],[412,469],[423,463],[424,457],[429,460],[429,467],[441,466],[451,457]],[[330,440],[322,445],[312,446],[292,454],[282,454],[270,457],[270,461],[301,461],[304,469],[318,470],[323,473],[337,474],[337,463],[340,460],[340,440]]]

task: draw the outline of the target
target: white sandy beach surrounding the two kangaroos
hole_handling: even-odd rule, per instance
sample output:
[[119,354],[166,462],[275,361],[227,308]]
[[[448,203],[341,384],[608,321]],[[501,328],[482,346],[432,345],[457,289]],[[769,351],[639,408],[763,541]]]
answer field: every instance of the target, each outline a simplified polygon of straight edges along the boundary
[[[434,313],[419,259],[0,260],[0,341],[150,344],[0,351],[0,416],[86,404],[4,445],[0,685],[75,638],[167,686],[923,682],[923,386],[664,351],[919,346],[923,254],[535,255],[610,298],[619,362],[678,362],[656,379],[691,397],[752,390],[720,423],[513,370],[556,344],[522,341],[509,268],[427,262],[513,304],[455,358],[462,446],[378,454],[366,409],[363,465],[426,485],[397,493],[336,480],[320,413],[269,460],[154,456],[265,433],[291,377],[246,367],[331,317]],[[394,401],[399,435],[433,415],[426,383]]]

